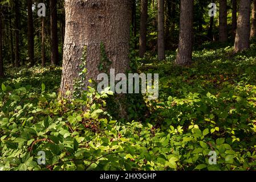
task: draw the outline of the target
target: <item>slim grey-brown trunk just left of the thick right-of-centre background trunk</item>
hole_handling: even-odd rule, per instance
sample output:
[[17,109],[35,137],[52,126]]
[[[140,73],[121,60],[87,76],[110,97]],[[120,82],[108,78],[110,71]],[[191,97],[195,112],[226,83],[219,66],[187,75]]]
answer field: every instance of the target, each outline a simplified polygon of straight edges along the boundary
[[158,14],[157,14],[157,53],[158,59],[165,59],[165,47],[164,47],[164,0],[158,0]]

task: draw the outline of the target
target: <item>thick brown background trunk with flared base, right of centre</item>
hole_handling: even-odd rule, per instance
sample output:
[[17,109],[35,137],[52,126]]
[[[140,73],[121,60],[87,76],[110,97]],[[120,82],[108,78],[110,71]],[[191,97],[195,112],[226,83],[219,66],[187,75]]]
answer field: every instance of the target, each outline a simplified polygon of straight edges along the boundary
[[189,65],[192,63],[193,45],[193,1],[181,0],[180,38],[176,64]]

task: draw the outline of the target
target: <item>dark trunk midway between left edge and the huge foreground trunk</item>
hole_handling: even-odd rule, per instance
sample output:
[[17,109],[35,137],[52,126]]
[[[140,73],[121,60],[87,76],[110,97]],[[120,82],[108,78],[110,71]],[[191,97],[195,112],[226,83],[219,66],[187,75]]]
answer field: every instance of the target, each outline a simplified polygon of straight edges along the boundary
[[27,45],[29,50],[30,66],[34,65],[34,26],[32,14],[32,0],[27,0]]

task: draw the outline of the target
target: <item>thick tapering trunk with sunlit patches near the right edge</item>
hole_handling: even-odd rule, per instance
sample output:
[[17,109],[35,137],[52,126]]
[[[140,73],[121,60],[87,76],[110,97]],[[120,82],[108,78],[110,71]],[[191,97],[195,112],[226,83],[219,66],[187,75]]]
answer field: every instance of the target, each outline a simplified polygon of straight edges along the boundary
[[237,34],[235,35],[234,51],[241,52],[250,48],[250,0],[240,0],[237,20]]

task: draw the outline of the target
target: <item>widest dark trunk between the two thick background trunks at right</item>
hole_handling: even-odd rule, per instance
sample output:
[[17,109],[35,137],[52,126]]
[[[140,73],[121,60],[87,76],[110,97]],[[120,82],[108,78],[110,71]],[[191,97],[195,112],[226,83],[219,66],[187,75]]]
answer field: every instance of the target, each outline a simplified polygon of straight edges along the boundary
[[227,0],[220,0],[220,42],[227,41]]

